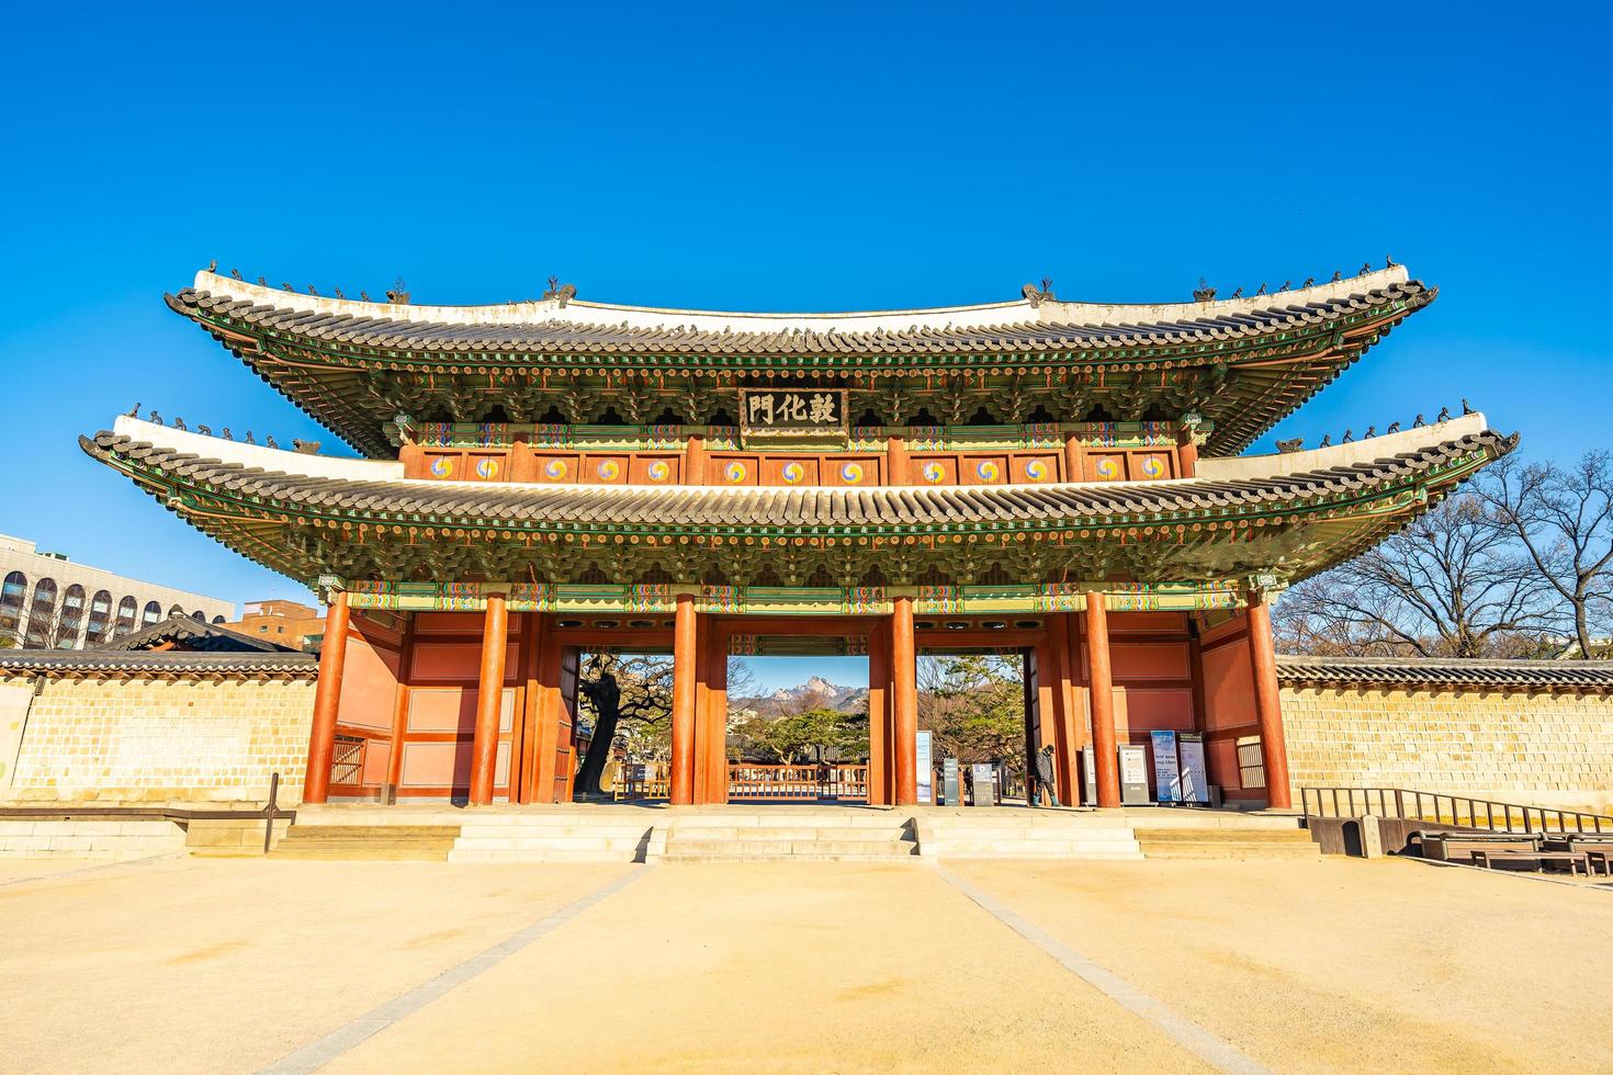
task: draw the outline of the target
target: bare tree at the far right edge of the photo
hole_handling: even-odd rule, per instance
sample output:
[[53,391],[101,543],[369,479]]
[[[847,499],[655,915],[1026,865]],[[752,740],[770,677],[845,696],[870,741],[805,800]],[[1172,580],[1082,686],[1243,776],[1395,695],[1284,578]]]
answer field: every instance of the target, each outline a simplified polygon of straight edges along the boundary
[[1574,641],[1565,656],[1589,659],[1594,630],[1613,603],[1613,464],[1587,451],[1573,467],[1497,461],[1474,495],[1498,527],[1518,540],[1540,582],[1565,603]]

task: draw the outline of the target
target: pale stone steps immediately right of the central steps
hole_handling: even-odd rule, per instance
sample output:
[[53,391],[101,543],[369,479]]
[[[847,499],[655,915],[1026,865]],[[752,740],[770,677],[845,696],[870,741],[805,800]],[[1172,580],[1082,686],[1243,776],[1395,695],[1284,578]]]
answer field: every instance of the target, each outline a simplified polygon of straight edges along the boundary
[[932,809],[916,816],[924,859],[1140,859],[1121,814]]

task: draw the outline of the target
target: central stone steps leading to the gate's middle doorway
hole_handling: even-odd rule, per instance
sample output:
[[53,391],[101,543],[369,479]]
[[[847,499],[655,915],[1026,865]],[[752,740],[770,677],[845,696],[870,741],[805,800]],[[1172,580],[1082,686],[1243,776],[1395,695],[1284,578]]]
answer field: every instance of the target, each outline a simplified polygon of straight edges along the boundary
[[724,807],[674,814],[650,859],[663,862],[918,862],[905,812],[881,809]]

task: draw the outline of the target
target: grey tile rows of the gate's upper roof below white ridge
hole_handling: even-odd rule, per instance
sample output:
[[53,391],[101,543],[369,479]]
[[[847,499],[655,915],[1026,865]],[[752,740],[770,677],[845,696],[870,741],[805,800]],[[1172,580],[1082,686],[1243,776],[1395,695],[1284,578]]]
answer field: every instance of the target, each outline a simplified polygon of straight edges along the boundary
[[[261,290],[261,288],[258,288]],[[274,292],[266,292],[268,297]],[[461,322],[395,319],[347,313],[363,308],[342,303],[342,313],[298,309],[292,303],[253,301],[231,293],[187,287],[165,297],[187,316],[227,316],[256,330],[302,337],[318,343],[345,343],[390,350],[476,351],[532,355],[971,355],[1095,351],[1105,348],[1173,347],[1248,340],[1268,334],[1326,324],[1390,301],[1428,301],[1432,292],[1419,280],[1353,292],[1337,298],[1303,300],[1303,292],[1271,295],[1269,303],[1221,316],[1189,316],[1169,321],[1082,324],[1018,321],[1007,324],[911,326],[852,332],[715,330],[690,324],[606,324],[574,318],[529,322]],[[376,305],[374,309],[387,309]],[[668,321],[677,311],[669,311]]]

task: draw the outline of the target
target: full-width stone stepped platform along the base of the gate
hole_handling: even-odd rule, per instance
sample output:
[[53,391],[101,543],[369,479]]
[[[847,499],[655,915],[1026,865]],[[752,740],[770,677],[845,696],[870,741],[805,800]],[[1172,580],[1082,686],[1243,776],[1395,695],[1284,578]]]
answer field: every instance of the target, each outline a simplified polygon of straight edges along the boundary
[[[1147,846],[1137,830],[1150,833]],[[758,862],[953,859],[1137,861],[1147,854],[1265,857],[1315,845],[1292,814],[805,806],[329,804],[298,811],[289,857],[418,857],[448,862]],[[1208,833],[1208,835],[1207,835]],[[366,843],[371,853],[366,851]],[[363,854],[360,854],[363,853]]]

